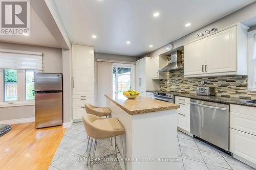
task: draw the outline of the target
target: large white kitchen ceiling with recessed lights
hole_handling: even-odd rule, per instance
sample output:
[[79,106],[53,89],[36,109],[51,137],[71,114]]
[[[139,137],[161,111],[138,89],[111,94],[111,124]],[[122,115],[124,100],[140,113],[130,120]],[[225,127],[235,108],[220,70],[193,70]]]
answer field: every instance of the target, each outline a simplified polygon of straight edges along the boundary
[[[96,52],[139,56],[254,0],[54,0],[71,42]],[[153,13],[159,12],[157,18]],[[190,27],[185,23],[191,22]],[[92,35],[97,35],[96,39]],[[126,44],[131,41],[131,44]],[[150,48],[149,45],[154,47]]]

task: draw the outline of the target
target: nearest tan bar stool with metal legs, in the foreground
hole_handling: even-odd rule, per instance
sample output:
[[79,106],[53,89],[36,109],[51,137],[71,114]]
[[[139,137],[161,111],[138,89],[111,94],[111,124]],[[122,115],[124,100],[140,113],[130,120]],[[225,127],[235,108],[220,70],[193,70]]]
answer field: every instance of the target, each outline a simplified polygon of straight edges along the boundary
[[[98,139],[106,139],[110,137],[115,137],[115,149],[116,152],[114,153],[115,155],[120,151],[119,148],[116,144],[116,136],[122,135],[122,147],[123,147],[123,155],[121,155],[123,162],[124,162],[124,168],[126,170],[126,139],[125,139],[125,131],[120,124],[119,120],[117,118],[103,118],[99,116],[95,116],[92,114],[84,114],[82,116],[83,119],[83,125],[84,128],[86,129],[87,135],[92,138],[91,144],[90,144],[90,153],[88,156],[87,160],[87,165],[90,159],[90,168],[91,170],[93,169],[93,165],[95,163],[95,152],[97,148],[97,141]],[[95,139],[94,142],[94,150],[93,150],[93,158],[91,161],[91,148],[92,148],[92,143],[93,139]],[[88,143],[89,145],[89,143]],[[88,148],[87,145],[87,148]],[[117,152],[118,150],[118,152]],[[110,155],[114,155],[110,154]],[[106,155],[106,156],[110,156]],[[106,157],[103,156],[103,157]],[[101,158],[103,158],[101,157]]]

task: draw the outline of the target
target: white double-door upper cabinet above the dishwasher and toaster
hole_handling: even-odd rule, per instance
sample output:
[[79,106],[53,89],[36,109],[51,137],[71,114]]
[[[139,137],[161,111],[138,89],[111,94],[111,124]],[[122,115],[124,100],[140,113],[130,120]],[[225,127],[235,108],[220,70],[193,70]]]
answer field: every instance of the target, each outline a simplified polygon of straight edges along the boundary
[[238,23],[184,45],[184,77],[247,75],[247,30]]

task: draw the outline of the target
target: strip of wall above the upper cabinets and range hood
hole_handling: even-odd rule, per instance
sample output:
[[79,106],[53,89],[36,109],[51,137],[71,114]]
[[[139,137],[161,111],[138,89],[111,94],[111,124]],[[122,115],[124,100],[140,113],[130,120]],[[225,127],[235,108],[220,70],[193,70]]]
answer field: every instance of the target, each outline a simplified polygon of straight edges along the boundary
[[[194,31],[193,33],[190,33],[180,39],[177,39],[173,42],[171,42],[174,46],[174,48],[177,48],[177,47],[180,47],[182,46],[183,44],[187,43],[187,42],[190,42],[194,39],[196,39],[196,36],[198,33],[204,33],[205,30],[209,30],[211,28],[218,28],[218,30],[221,30],[225,27],[228,27],[230,25],[233,25],[234,23],[237,23],[237,22],[244,22],[246,21],[247,19],[250,19],[254,16],[256,16],[256,2],[253,3],[253,4],[250,4],[236,12],[233,12],[232,14],[229,14],[215,22],[212,22],[210,23],[209,25],[197,30],[197,31]],[[161,48],[159,48],[158,50],[150,53],[150,54],[147,54],[148,57],[154,57],[156,55],[160,55],[160,54],[163,54],[166,52],[166,46],[163,46]]]

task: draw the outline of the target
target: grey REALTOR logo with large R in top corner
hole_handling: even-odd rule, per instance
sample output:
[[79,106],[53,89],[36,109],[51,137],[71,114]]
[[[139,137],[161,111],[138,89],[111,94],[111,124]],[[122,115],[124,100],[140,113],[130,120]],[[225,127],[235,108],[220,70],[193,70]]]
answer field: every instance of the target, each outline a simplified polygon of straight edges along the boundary
[[29,2],[0,0],[1,35],[29,34]]

